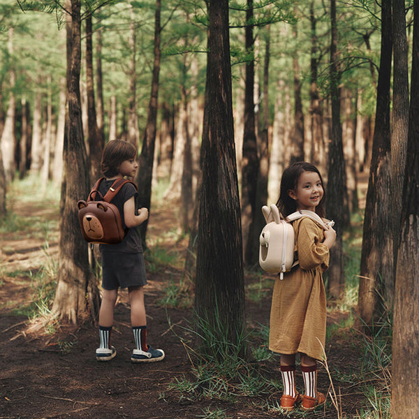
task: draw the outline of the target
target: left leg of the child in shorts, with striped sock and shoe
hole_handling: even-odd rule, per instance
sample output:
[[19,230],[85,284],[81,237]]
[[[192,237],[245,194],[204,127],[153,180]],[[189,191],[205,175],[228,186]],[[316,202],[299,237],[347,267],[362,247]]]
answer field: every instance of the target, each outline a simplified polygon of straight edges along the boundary
[[103,290],[101,309],[99,310],[100,346],[96,349],[96,360],[109,361],[117,354],[110,344],[112,334],[113,311],[117,302],[118,290]]

